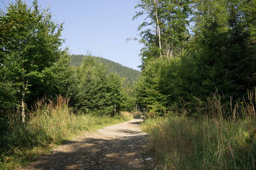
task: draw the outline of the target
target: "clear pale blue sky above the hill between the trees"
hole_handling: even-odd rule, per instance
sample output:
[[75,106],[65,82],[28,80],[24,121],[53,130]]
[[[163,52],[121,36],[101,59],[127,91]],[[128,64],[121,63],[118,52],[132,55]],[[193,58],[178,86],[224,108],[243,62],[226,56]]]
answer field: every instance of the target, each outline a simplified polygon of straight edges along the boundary
[[[8,0],[0,0],[0,7]],[[32,0],[26,3],[31,5]],[[63,38],[67,39],[72,54],[100,56],[121,63],[123,66],[138,69],[141,59],[138,56],[143,47],[137,41],[126,41],[129,37],[138,38],[138,25],[143,18],[132,20],[134,6],[138,0],[38,0],[42,8],[48,3],[53,19],[64,22]]]

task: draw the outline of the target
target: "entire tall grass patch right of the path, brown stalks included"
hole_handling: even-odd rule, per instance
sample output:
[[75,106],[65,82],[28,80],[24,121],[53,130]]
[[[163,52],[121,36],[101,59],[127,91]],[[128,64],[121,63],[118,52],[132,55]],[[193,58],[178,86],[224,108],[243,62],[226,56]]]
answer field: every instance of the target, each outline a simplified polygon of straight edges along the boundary
[[183,105],[178,114],[147,118],[142,128],[160,168],[256,169],[255,100],[248,94],[233,106],[214,95],[194,117],[185,116],[191,109]]

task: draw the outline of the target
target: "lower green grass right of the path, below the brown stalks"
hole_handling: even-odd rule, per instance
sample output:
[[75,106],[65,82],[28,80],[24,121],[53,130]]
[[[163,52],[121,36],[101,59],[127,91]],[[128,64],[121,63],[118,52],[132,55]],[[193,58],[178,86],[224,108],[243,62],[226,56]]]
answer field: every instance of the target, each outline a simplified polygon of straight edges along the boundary
[[171,116],[148,119],[142,129],[166,169],[250,169],[255,162],[252,120]]

